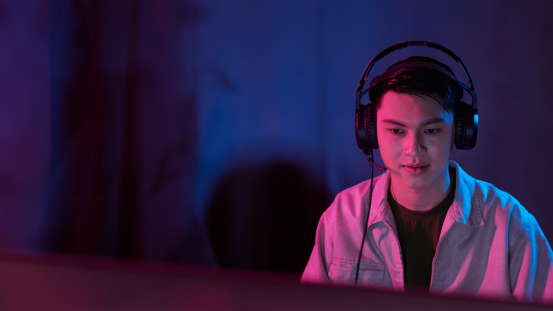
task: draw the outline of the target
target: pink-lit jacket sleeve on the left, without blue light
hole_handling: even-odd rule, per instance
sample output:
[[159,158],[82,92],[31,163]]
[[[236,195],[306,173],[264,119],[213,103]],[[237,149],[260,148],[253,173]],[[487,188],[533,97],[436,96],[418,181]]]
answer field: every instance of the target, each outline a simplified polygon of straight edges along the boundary
[[301,283],[332,283],[328,277],[333,251],[333,227],[328,219],[328,214],[332,208],[331,205],[321,215],[315,235],[315,246],[301,276]]

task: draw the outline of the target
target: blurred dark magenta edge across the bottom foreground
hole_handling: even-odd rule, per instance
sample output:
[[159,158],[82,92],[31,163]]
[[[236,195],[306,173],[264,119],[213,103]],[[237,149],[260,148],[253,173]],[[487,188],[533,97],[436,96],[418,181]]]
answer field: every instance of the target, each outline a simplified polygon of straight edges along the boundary
[[551,305],[300,284],[299,276],[0,252],[0,310],[551,310]]

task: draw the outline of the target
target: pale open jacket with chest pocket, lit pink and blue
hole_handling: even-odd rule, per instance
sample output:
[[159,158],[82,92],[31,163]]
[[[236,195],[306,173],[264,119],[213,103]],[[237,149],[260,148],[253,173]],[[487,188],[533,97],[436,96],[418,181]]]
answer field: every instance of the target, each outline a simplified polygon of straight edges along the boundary
[[[512,195],[449,165],[457,170],[455,199],[440,232],[430,292],[553,302],[553,252],[534,216]],[[374,178],[358,284],[404,291],[389,182],[389,172]],[[353,284],[370,186],[367,180],[342,191],[322,214],[301,282]]]

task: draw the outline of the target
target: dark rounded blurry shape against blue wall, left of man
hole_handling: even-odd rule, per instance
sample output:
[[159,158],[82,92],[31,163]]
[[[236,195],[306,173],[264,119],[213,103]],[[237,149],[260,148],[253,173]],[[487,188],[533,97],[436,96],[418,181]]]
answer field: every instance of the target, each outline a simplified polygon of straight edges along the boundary
[[207,230],[225,268],[301,273],[330,204],[296,164],[239,168],[226,175],[207,206]]

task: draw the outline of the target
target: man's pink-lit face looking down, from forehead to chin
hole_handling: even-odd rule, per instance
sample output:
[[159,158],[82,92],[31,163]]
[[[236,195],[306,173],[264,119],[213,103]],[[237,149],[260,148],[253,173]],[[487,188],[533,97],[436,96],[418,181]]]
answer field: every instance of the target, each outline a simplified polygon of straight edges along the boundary
[[377,111],[377,136],[394,182],[425,188],[447,169],[453,115],[431,97],[389,91]]

